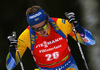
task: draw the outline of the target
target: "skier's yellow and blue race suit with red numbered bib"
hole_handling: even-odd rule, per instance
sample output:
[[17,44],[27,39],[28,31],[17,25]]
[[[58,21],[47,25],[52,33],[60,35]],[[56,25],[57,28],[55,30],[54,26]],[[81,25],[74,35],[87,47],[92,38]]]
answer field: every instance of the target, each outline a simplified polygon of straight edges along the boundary
[[[35,41],[31,41],[30,26],[28,26],[18,38],[18,50],[20,57],[22,58],[26,49],[29,48],[31,51],[31,43],[34,43],[32,55],[40,70],[78,70],[74,58],[71,55],[71,49],[68,45],[67,38],[70,35],[74,40],[76,40],[75,34],[73,32],[72,25],[68,20],[62,18],[51,18],[59,29],[63,32],[66,38],[63,38],[57,32],[55,28],[49,24],[48,37],[42,37],[35,32]],[[77,37],[80,43],[85,45],[95,44],[95,40],[92,34],[81,27],[79,24],[75,27],[77,32]],[[7,68],[13,69],[19,62],[17,53],[15,54],[15,59],[12,57],[11,52],[7,55]],[[11,64],[13,63],[13,64]]]

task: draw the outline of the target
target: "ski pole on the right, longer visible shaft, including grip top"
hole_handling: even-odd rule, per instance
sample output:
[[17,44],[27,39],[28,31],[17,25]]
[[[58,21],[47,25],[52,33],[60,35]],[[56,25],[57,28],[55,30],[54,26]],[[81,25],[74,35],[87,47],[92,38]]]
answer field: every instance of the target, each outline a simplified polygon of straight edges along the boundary
[[[65,12],[65,16],[68,18],[68,16],[70,16],[70,15],[68,15],[68,13]],[[82,59],[84,60],[86,69],[89,70],[88,65],[87,65],[87,62],[86,62],[86,60],[85,60],[85,56],[84,56],[84,54],[83,54],[83,51],[82,51],[82,48],[81,48],[81,45],[80,45],[80,42],[79,42],[79,40],[78,40],[78,37],[77,37],[77,34],[76,34],[75,27],[74,27],[74,24],[73,24],[73,23],[72,23],[72,27],[73,27],[73,31],[74,31],[74,34],[75,34],[75,37],[76,37],[76,41],[77,41],[77,44],[78,44],[78,47],[79,47],[79,50],[80,50]]]

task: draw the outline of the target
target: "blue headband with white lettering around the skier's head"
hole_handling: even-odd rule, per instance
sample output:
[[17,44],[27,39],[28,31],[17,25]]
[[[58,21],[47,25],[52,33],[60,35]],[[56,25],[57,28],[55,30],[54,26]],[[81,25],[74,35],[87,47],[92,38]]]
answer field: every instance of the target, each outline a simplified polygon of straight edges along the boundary
[[46,20],[47,15],[44,13],[44,10],[41,8],[39,11],[27,15],[27,20],[30,26],[36,25],[44,20]]

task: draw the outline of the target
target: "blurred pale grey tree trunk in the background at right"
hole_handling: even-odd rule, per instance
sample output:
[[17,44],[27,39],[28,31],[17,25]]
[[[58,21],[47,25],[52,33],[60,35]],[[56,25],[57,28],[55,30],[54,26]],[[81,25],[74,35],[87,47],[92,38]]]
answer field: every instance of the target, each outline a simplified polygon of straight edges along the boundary
[[82,23],[90,30],[96,40],[94,46],[87,48],[90,70],[100,70],[100,0],[79,0],[82,10]]

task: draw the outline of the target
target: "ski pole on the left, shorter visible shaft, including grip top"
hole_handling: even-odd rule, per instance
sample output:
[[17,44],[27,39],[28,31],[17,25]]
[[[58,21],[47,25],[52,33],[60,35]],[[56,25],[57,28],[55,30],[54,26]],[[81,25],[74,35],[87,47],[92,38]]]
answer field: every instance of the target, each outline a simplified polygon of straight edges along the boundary
[[[13,32],[12,32],[12,36],[9,36],[8,39],[10,39],[10,40],[15,40],[15,38],[16,38],[16,32],[13,31]],[[22,60],[21,60],[21,58],[20,58],[17,45],[15,45],[15,49],[16,49],[16,51],[17,51],[17,55],[18,55],[18,59],[19,59],[19,62],[20,62],[21,69],[24,70],[24,66],[23,66]]]

